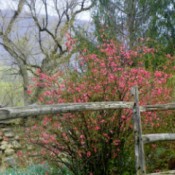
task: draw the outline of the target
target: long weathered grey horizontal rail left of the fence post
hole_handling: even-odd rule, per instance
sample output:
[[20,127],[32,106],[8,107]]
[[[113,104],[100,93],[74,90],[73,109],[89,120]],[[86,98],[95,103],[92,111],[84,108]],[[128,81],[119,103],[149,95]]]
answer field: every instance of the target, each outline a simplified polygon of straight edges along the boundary
[[63,103],[55,105],[36,105],[25,107],[7,107],[0,109],[0,121],[15,118],[25,118],[35,115],[58,114],[78,111],[99,111],[104,109],[132,109],[133,102],[90,102],[90,103]]

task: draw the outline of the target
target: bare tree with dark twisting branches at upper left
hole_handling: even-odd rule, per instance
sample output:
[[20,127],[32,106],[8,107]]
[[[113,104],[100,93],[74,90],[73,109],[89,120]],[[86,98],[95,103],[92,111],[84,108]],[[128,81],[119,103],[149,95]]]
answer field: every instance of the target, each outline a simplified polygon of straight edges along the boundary
[[[17,0],[13,14],[0,11],[0,44],[19,68],[23,82],[24,104],[27,105],[40,93],[36,89],[33,98],[27,94],[30,74],[40,68],[52,74],[70,59],[65,45],[65,34],[71,32],[74,20],[89,10],[89,0]],[[28,19],[28,24],[23,24]],[[23,26],[26,25],[26,26]]]

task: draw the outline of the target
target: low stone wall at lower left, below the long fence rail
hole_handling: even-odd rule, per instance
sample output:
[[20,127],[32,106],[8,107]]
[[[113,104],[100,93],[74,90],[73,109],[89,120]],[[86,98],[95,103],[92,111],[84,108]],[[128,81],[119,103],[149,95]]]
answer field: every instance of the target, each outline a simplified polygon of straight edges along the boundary
[[[32,120],[32,117],[25,120],[14,119],[0,122],[0,172],[7,167],[25,166],[35,162],[36,146],[27,141],[25,133],[25,128],[34,123],[35,120]],[[20,161],[20,154],[17,154],[19,151],[23,154]]]

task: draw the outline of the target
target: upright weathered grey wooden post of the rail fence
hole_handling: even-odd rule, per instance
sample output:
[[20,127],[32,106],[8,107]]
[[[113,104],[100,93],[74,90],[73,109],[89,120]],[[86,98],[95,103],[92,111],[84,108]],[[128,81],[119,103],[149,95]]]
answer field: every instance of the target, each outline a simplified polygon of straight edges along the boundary
[[144,145],[142,140],[142,125],[139,109],[139,92],[138,87],[135,86],[131,89],[132,95],[134,95],[133,106],[133,122],[134,122],[134,138],[135,138],[135,160],[136,160],[136,175],[145,175],[145,154]]

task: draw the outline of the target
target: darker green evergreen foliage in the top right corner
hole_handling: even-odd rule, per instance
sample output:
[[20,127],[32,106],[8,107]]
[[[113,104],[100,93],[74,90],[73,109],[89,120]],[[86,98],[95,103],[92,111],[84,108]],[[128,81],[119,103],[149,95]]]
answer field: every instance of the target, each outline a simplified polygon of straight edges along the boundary
[[174,54],[175,46],[175,20],[174,20],[174,2],[167,1],[151,1],[147,2],[150,13],[149,27],[146,36],[155,39],[162,44],[166,53]]

